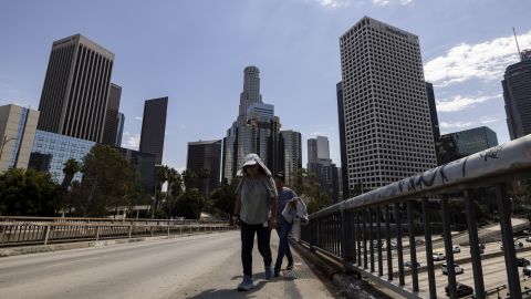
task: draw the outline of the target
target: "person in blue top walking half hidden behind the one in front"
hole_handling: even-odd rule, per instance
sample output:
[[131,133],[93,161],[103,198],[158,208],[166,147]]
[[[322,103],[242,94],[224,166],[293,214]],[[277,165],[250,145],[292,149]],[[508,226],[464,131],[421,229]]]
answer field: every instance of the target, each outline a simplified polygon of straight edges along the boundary
[[284,210],[285,206],[292,198],[296,197],[296,194],[292,189],[285,187],[284,173],[277,173],[274,175],[274,183],[279,194],[279,203],[277,208],[277,234],[279,235],[279,251],[277,254],[277,262],[274,264],[274,276],[279,276],[284,256],[288,258],[288,267],[285,269],[293,269],[293,256],[291,255],[290,243],[288,240],[288,235],[290,234],[293,224],[284,219],[282,216],[282,210]]

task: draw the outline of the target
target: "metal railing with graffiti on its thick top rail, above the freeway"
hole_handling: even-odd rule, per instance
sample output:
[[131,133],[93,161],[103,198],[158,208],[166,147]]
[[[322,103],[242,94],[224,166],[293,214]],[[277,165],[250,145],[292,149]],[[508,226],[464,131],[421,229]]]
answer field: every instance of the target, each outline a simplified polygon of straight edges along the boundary
[[[519,299],[522,298],[522,290],[507,189],[509,183],[529,178],[530,171],[531,135],[528,135],[314,213],[310,215],[310,224],[301,227],[301,240],[311,250],[341,260],[345,270],[358,272],[404,297],[419,298],[424,295],[437,298],[429,203],[438,198],[442,236],[451,236],[448,198],[461,198],[458,200],[466,205],[475,298],[486,298],[475,207],[475,200],[479,198],[475,198],[473,190],[493,187],[504,255],[504,267],[500,269],[507,271],[511,298]],[[414,213],[416,209],[420,214]],[[418,246],[414,234],[415,226],[419,225],[424,228],[428,276],[428,286],[424,290],[419,290],[416,266]],[[396,244],[392,243],[392,238]],[[413,265],[407,274],[403,238],[408,240],[409,261]],[[451,237],[444,238],[444,243],[448,265],[447,295],[451,298],[461,297],[456,283]],[[393,256],[397,261],[393,261]],[[405,282],[406,275],[409,276],[408,286]],[[444,295],[439,292],[438,296]]]

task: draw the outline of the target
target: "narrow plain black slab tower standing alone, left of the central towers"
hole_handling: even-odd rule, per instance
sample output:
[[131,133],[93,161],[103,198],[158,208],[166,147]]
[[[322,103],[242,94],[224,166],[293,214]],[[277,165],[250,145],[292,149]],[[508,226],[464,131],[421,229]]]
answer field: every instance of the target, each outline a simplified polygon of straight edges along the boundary
[[162,165],[163,163],[167,110],[167,96],[147,100],[144,104],[139,151],[154,154],[156,165]]

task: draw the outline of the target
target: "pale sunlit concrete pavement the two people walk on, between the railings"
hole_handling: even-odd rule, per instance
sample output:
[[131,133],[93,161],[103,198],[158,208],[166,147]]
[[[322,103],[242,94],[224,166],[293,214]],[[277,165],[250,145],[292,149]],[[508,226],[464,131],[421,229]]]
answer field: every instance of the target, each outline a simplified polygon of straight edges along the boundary
[[237,291],[240,235],[229,231],[0,258],[0,298],[333,298],[296,254],[266,281],[256,247],[253,270],[257,288]]

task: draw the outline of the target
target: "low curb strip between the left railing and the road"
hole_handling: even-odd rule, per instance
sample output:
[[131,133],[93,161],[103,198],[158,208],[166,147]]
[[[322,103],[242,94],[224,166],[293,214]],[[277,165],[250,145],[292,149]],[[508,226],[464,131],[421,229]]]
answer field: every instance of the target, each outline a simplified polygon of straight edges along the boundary
[[209,235],[209,234],[221,234],[227,231],[232,231],[232,230],[211,231],[207,234],[183,234],[183,235],[171,235],[171,236],[140,237],[140,238],[131,238],[131,239],[110,239],[110,240],[97,240],[97,241],[77,241],[77,243],[50,244],[50,245],[37,245],[37,246],[21,246],[21,247],[0,249],[0,258],[30,255],[30,254],[53,252],[53,251],[70,250],[70,249],[105,247],[105,246],[139,243],[139,241],[174,239],[179,237],[200,236],[200,235]]

